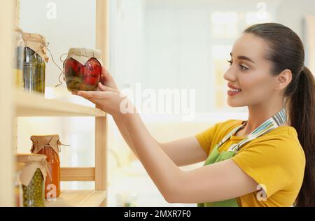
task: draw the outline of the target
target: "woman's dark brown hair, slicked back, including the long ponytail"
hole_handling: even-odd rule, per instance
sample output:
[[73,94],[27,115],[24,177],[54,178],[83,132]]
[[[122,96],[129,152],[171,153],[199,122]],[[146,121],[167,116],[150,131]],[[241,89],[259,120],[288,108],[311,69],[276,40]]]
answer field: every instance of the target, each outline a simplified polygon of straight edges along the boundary
[[272,62],[274,76],[286,69],[292,72],[284,99],[288,122],[296,129],[306,156],[304,180],[294,206],[315,206],[315,80],[304,66],[303,43],[293,30],[282,24],[255,24],[244,33],[254,34],[268,43],[266,58]]

